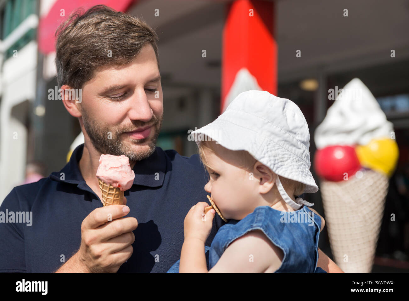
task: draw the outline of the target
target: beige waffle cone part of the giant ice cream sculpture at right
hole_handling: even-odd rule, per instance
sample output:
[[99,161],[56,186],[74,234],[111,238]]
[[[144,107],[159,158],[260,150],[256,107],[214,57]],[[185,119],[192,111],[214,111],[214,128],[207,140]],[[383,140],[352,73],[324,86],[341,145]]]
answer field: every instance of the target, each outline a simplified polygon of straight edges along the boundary
[[320,187],[331,250],[346,273],[371,272],[389,187],[379,172],[362,174]]

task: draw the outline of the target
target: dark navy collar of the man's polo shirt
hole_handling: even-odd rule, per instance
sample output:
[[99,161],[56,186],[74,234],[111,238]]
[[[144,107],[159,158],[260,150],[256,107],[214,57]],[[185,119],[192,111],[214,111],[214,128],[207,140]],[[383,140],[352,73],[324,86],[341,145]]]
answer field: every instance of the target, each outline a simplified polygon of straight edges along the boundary
[[[85,180],[78,167],[83,149],[84,144],[77,146],[74,152],[72,152],[70,161],[63,169],[59,172],[52,172],[49,178],[58,182],[84,186]],[[148,187],[162,186],[166,172],[166,158],[163,150],[160,147],[156,147],[155,152],[151,156],[135,163],[133,171],[135,173],[133,184]]]

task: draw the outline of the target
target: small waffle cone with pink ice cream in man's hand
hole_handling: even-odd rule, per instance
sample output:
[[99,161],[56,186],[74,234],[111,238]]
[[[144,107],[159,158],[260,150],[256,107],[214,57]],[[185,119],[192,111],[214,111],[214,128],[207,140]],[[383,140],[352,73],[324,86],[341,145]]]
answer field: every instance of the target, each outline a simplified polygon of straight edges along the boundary
[[124,191],[131,188],[135,179],[128,157],[102,154],[96,176],[102,192],[103,206],[124,204]]

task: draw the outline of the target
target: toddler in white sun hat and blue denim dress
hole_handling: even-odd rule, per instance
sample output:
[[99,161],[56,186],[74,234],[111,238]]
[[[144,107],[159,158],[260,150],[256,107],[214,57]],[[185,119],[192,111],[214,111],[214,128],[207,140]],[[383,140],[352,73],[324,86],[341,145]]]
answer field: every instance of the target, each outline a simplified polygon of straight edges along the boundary
[[216,210],[205,213],[204,201],[193,206],[180,260],[168,272],[324,272],[317,260],[325,222],[307,207],[313,204],[294,197],[318,190],[299,107],[266,91],[246,91],[192,135],[210,176],[205,190],[228,222],[209,248]]

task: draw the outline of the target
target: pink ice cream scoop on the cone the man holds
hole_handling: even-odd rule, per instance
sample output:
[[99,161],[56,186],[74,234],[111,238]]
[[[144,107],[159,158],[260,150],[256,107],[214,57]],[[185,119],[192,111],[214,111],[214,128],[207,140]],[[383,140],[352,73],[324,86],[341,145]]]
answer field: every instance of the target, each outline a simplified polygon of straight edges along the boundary
[[101,181],[119,188],[121,191],[132,187],[135,173],[130,168],[129,158],[125,155],[112,156],[102,154],[96,174]]

